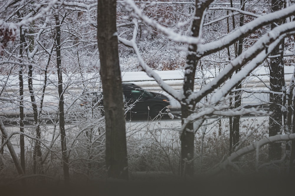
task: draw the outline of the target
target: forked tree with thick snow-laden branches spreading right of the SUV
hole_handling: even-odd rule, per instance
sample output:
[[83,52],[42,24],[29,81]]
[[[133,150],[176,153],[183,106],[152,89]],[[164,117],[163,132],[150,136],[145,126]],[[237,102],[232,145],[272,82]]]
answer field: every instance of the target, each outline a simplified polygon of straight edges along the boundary
[[[127,46],[133,47],[138,56],[139,63],[148,73],[149,76],[153,77],[158,84],[176,100],[179,100],[181,103],[181,112],[182,112],[182,129],[180,132],[181,138],[181,175],[193,176],[193,162],[194,162],[194,134],[202,126],[205,119],[208,116],[212,115],[241,115],[242,113],[256,113],[259,111],[256,109],[228,109],[228,93],[238,85],[248,74],[251,73],[256,67],[263,62],[273,48],[281,41],[285,36],[288,36],[290,32],[294,31],[294,22],[289,23],[288,25],[282,24],[279,27],[274,28],[271,32],[275,33],[276,36],[272,37],[272,33],[264,34],[258,41],[256,41],[248,50],[243,51],[239,56],[230,63],[219,73],[219,75],[214,78],[210,83],[201,88],[197,93],[194,93],[194,78],[196,66],[201,58],[213,54],[217,51],[221,51],[228,46],[231,46],[235,42],[241,40],[242,38],[247,37],[253,31],[268,25],[272,22],[277,22],[283,18],[291,16],[293,13],[291,9],[294,9],[294,6],[286,8],[282,11],[277,11],[276,13],[268,14],[266,16],[260,16],[251,14],[249,12],[241,11],[240,13],[248,14],[250,16],[258,17],[247,24],[240,26],[239,30],[235,30],[230,33],[230,36],[225,36],[217,41],[212,41],[209,43],[202,44],[200,38],[202,36],[203,28],[203,19],[206,15],[207,7],[212,2],[208,1],[198,1],[196,0],[196,9],[194,12],[194,17],[191,21],[191,29],[187,36],[179,35],[175,33],[172,29],[165,28],[160,25],[157,21],[148,18],[143,14],[137,6],[130,0],[125,0],[128,5],[128,8],[132,9],[136,13],[136,17],[141,21],[144,21],[146,24],[157,29],[164,35],[168,36],[176,42],[185,42],[188,44],[187,51],[187,61],[184,71],[184,84],[181,94],[175,92],[168,86],[161,78],[153,72],[151,68],[142,59],[140,52],[136,46],[136,34],[137,34],[137,23],[134,22],[135,29],[133,38],[131,40],[126,40],[122,37],[119,37],[119,41],[124,43]],[[218,8],[216,8],[218,9]],[[229,8],[228,8],[229,9]],[[285,29],[287,28],[287,29]],[[266,46],[268,50],[264,51]],[[239,71],[240,70],[240,71]],[[236,73],[235,73],[236,72]],[[232,73],[235,73],[232,76]],[[219,88],[219,86],[223,85]],[[217,90],[218,88],[218,90]],[[215,91],[215,92],[214,92]],[[212,93],[214,92],[214,93]],[[212,94],[211,94],[212,93]],[[204,104],[203,108],[200,108],[194,112],[196,103],[199,103],[205,96],[211,94],[211,98]],[[192,125],[194,123],[194,126]]]

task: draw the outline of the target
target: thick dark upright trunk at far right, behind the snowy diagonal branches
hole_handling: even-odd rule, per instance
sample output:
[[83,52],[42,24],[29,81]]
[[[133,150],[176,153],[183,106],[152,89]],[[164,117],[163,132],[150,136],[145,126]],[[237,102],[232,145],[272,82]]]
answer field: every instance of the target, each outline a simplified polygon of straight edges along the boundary
[[[272,0],[272,11],[278,11],[283,8],[282,1],[278,0]],[[278,25],[282,24],[282,21],[278,22]],[[271,24],[271,29],[274,29],[276,27],[276,24]],[[267,47],[266,47],[267,50]],[[278,55],[277,57],[271,58],[270,60],[270,87],[271,91],[274,92],[282,92],[283,89],[283,83],[282,83],[282,77],[283,76],[283,69],[284,66],[281,64],[280,59],[280,48],[277,46],[272,52],[271,56]],[[272,111],[272,115],[269,118],[269,136],[277,135],[278,133],[281,133],[282,128],[282,104],[283,99],[281,95],[270,93],[269,95],[269,102],[270,105],[270,111]],[[268,147],[268,158],[269,160],[279,160],[281,159],[281,143],[271,143]]]

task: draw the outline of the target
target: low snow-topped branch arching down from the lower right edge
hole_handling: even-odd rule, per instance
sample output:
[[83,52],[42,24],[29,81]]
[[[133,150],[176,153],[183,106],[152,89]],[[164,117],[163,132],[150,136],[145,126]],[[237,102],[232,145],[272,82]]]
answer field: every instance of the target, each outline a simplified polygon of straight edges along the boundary
[[289,141],[289,140],[295,140],[295,133],[292,134],[285,134],[285,135],[274,135],[271,137],[266,137],[258,142],[255,142],[251,145],[245,146],[244,148],[241,148],[240,150],[237,150],[233,152],[224,162],[219,164],[217,167],[215,167],[212,170],[209,170],[207,173],[209,175],[216,175],[217,173],[224,170],[227,165],[230,165],[233,160],[235,160],[238,157],[241,157],[242,155],[248,154],[250,152],[253,152],[254,150],[259,150],[262,146],[267,145],[269,143],[273,142],[281,142],[281,141]]

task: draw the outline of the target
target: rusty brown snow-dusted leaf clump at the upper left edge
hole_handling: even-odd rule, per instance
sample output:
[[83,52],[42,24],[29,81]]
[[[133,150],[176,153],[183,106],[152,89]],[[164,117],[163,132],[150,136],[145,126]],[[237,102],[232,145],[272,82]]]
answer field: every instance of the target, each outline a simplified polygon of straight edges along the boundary
[[18,28],[13,23],[6,23],[0,20],[0,55],[3,55],[4,48],[9,41],[14,41],[18,34]]

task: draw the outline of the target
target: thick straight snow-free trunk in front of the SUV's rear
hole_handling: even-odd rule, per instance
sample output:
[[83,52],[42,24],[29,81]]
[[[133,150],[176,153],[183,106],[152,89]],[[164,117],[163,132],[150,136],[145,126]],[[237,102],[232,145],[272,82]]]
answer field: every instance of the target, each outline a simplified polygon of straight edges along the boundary
[[97,40],[106,122],[108,177],[128,179],[123,90],[119,67],[116,0],[98,0]]

